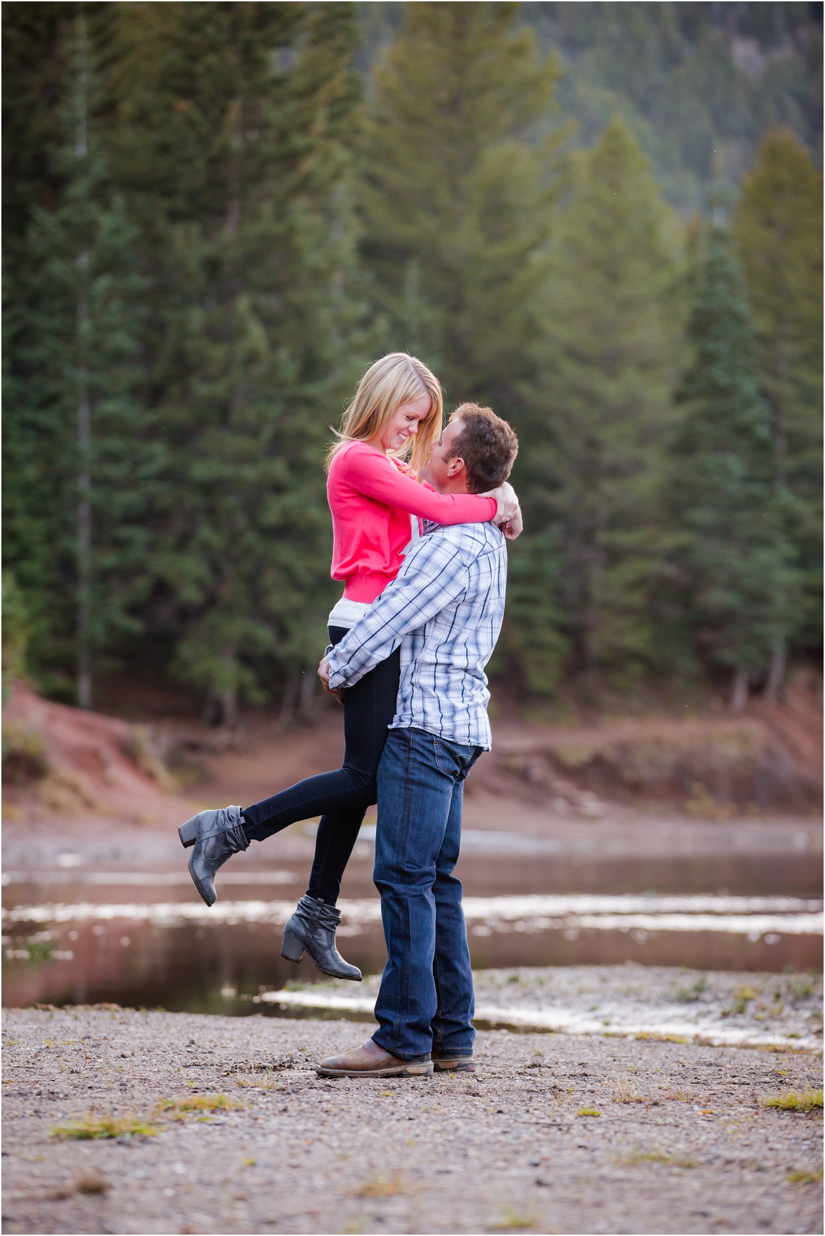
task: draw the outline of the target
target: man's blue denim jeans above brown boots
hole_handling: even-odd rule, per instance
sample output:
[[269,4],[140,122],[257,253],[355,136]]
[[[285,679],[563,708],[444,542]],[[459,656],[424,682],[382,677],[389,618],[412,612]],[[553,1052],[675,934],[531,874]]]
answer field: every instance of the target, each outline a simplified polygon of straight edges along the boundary
[[472,1054],[472,970],[453,868],[464,779],[480,754],[423,729],[391,729],[378,765],[374,878],[388,960],[372,1037],[400,1059]]

